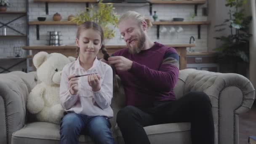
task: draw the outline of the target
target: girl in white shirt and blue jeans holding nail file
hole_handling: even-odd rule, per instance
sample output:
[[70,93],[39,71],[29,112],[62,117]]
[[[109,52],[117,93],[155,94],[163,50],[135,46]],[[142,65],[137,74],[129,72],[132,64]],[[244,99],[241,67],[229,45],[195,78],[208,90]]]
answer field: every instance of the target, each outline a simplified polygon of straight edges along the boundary
[[115,143],[109,122],[113,117],[112,68],[96,57],[100,49],[105,51],[103,40],[103,31],[95,22],[86,21],[77,29],[77,59],[61,75],[60,100],[67,111],[61,120],[61,144],[78,144],[81,133],[96,144]]

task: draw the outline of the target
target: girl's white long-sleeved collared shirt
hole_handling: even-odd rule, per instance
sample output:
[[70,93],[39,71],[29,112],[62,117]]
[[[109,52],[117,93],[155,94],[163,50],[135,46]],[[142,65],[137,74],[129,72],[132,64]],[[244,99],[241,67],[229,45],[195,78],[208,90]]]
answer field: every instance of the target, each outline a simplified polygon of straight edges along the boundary
[[[79,77],[78,93],[72,95],[68,86],[69,75],[86,75],[98,73],[101,77],[101,89],[93,92],[88,84],[88,76]],[[81,67],[79,58],[67,64],[61,74],[60,83],[60,101],[65,111],[71,111],[88,116],[106,116],[113,117],[113,110],[110,107],[113,97],[113,72],[112,68],[97,58],[93,66],[85,70]]]

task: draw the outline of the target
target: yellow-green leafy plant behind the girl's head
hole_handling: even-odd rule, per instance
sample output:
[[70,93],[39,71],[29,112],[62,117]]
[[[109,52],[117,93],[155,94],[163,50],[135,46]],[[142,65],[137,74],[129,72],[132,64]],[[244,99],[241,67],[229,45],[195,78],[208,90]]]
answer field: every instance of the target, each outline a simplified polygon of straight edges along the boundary
[[77,14],[72,21],[75,21],[77,25],[85,21],[94,21],[102,27],[105,39],[111,39],[115,37],[115,27],[119,20],[114,9],[112,3],[102,3],[100,0],[98,8],[94,8],[93,5],[91,8],[85,8],[85,11]]

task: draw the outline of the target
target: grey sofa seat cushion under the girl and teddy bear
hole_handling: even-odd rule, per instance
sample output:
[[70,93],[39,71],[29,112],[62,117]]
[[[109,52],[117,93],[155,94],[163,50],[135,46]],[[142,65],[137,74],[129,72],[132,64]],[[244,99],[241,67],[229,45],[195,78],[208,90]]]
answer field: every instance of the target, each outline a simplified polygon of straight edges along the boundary
[[[60,126],[54,123],[29,123],[12,135],[12,144],[59,144]],[[80,135],[79,144],[94,144],[89,136]]]

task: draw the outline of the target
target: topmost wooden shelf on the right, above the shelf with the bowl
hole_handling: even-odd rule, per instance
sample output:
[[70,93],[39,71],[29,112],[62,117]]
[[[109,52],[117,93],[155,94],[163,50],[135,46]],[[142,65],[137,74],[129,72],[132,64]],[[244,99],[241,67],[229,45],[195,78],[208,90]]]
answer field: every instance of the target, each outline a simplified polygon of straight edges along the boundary
[[205,4],[206,0],[150,0],[149,12],[152,15],[152,4],[192,4],[195,5],[195,15],[197,16],[198,5]]

